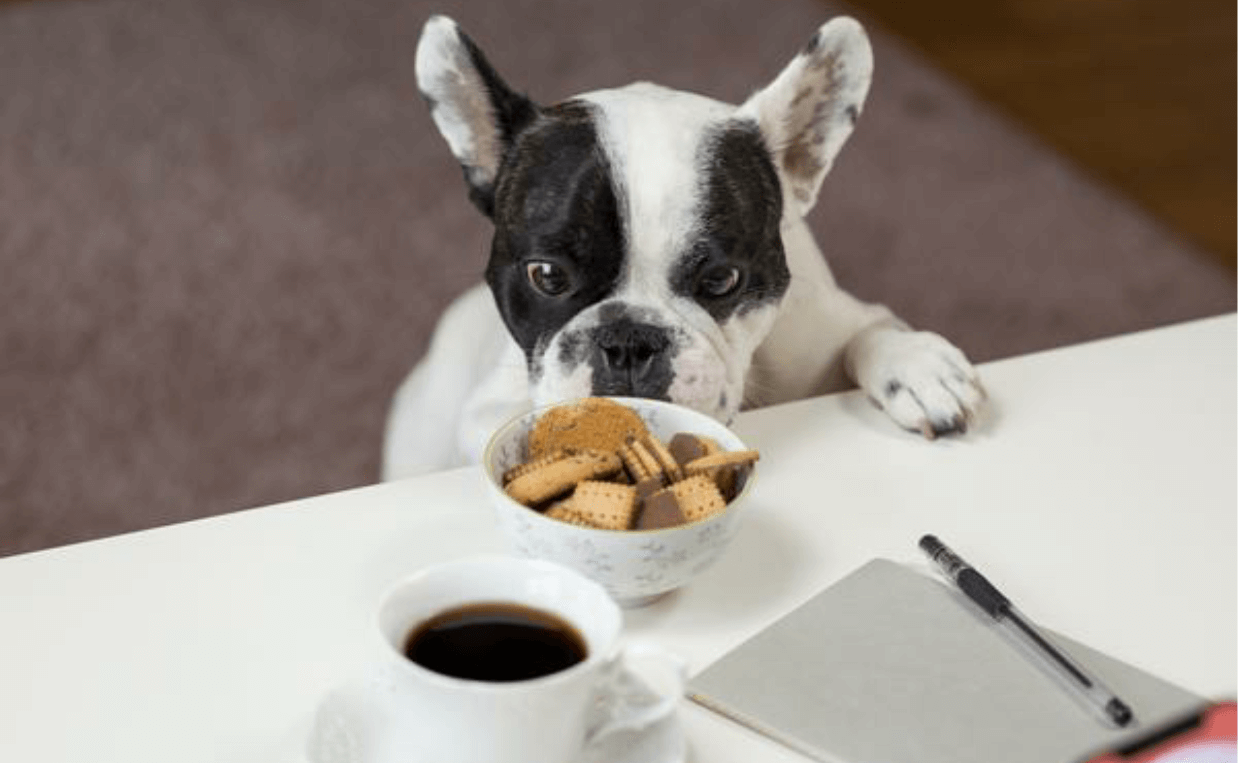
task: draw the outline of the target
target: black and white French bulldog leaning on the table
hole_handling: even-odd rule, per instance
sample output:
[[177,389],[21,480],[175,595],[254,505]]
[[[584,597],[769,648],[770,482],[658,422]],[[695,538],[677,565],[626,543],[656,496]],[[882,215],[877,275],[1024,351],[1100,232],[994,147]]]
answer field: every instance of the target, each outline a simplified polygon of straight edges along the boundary
[[872,79],[855,21],[739,107],[649,83],[537,105],[443,16],[416,69],[494,242],[395,398],[385,478],[475,462],[505,419],[587,395],[730,421],[851,380],[907,430],[966,430],[984,394],[963,353],[842,291],[805,224]]

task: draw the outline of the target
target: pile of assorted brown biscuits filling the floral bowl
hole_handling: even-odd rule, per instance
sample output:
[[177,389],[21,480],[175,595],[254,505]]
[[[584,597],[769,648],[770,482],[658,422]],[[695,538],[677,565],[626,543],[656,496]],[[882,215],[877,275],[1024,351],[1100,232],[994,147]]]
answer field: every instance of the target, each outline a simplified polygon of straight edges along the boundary
[[652,530],[704,519],[744,486],[756,451],[708,437],[662,442],[625,405],[604,398],[553,408],[529,434],[529,461],[504,489],[547,517],[605,530]]

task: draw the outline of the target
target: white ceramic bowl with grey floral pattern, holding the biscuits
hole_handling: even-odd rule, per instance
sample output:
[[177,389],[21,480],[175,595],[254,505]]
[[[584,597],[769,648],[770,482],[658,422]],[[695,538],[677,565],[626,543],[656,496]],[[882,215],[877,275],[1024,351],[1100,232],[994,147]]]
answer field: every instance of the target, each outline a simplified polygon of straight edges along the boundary
[[[747,450],[739,437],[709,416],[661,400],[610,398],[636,411],[664,442],[676,432],[712,437],[727,451]],[[725,509],[698,521],[657,530],[582,528],[522,505],[503,490],[503,473],[529,458],[529,432],[546,409],[501,426],[483,456],[499,524],[511,547],[548,559],[595,580],[624,607],[639,607],[678,588],[716,562],[739,528],[756,468]],[[759,464],[758,464],[759,466]]]

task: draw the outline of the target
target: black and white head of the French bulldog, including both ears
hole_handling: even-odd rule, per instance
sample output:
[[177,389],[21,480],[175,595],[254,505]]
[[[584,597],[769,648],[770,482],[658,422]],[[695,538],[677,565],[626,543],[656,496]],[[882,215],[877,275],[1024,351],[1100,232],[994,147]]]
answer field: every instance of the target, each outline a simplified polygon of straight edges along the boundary
[[669,399],[722,420],[790,284],[784,225],[812,207],[872,78],[836,19],[743,105],[640,83],[550,107],[431,19],[417,83],[469,197],[535,403]]

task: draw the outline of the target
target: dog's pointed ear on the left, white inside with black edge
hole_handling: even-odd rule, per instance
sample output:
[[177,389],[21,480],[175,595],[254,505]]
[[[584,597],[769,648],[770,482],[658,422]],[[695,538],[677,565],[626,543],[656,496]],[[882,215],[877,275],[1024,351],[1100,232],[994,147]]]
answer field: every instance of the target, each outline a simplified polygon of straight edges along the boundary
[[432,16],[417,43],[417,87],[438,131],[464,170],[469,198],[494,217],[494,182],[511,141],[537,105],[499,78],[477,45],[447,16]]

